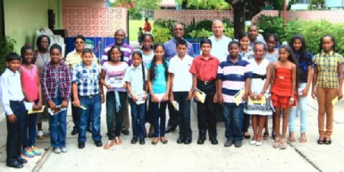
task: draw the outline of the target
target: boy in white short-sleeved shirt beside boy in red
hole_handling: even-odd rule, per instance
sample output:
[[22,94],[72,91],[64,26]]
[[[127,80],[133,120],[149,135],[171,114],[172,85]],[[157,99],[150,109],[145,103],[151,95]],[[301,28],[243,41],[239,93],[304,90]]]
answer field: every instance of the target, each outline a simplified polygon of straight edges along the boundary
[[170,101],[178,102],[177,111],[180,127],[180,136],[177,143],[189,144],[192,141],[190,123],[190,99],[192,98],[192,74],[189,72],[192,61],[187,55],[188,43],[185,40],[177,42],[177,55],[170,60],[169,72],[171,73]]

